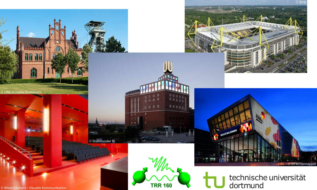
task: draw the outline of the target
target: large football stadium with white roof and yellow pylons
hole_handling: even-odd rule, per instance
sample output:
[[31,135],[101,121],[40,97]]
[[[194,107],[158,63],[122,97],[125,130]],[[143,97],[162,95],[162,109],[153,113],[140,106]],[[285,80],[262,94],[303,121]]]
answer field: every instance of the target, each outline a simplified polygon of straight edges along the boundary
[[262,15],[255,21],[243,16],[241,22],[214,26],[208,19],[205,27],[195,21],[194,45],[203,52],[225,53],[225,65],[256,67],[270,54],[282,53],[297,45],[303,35],[298,23],[288,20],[285,25],[263,22]]

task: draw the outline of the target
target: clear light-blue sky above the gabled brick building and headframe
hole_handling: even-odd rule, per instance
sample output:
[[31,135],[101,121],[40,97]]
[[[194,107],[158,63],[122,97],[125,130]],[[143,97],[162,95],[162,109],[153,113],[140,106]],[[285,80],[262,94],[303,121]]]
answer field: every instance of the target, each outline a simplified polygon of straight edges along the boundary
[[[61,28],[66,26],[66,39],[70,39],[72,31],[76,31],[77,41],[81,38],[81,48],[89,42],[90,36],[86,35],[85,24],[90,21],[106,22],[105,41],[114,35],[121,42],[121,47],[128,51],[128,9],[0,9],[0,17],[8,19],[0,27],[3,39],[16,38],[16,27],[19,25],[20,36],[47,38],[49,36],[49,24],[54,27],[61,19]],[[10,48],[16,49],[16,39],[9,44]]]

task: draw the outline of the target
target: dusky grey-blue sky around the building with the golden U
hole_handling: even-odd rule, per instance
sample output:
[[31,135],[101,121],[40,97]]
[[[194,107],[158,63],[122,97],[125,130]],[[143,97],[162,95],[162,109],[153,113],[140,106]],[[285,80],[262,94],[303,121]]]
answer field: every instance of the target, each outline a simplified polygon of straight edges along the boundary
[[171,61],[181,84],[189,85],[189,107],[194,88],[224,87],[224,53],[89,53],[89,123],[124,124],[125,93],[163,76],[163,63]]

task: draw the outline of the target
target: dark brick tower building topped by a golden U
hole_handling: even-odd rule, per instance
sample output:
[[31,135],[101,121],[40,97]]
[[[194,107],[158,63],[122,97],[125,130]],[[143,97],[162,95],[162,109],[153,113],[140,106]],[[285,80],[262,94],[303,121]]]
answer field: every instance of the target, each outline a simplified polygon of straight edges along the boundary
[[[167,66],[169,67],[169,61]],[[172,63],[171,66],[172,67]],[[158,81],[140,85],[138,90],[126,92],[125,127],[141,130],[171,126],[174,132],[190,128],[189,86],[178,83],[178,77],[167,71]]]

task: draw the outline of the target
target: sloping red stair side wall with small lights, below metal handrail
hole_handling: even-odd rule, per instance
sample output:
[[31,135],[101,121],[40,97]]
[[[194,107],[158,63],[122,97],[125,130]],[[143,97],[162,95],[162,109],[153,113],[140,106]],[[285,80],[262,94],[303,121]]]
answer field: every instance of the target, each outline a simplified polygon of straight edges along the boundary
[[[22,154],[16,149],[12,148],[8,143],[0,139],[0,153],[5,155],[7,160],[7,155],[9,156],[9,162],[13,164],[16,168],[21,170],[23,173],[27,174],[29,177],[33,177],[33,160],[29,159],[29,155]],[[15,161],[15,163],[13,163]],[[24,166],[24,169],[22,168]]]

